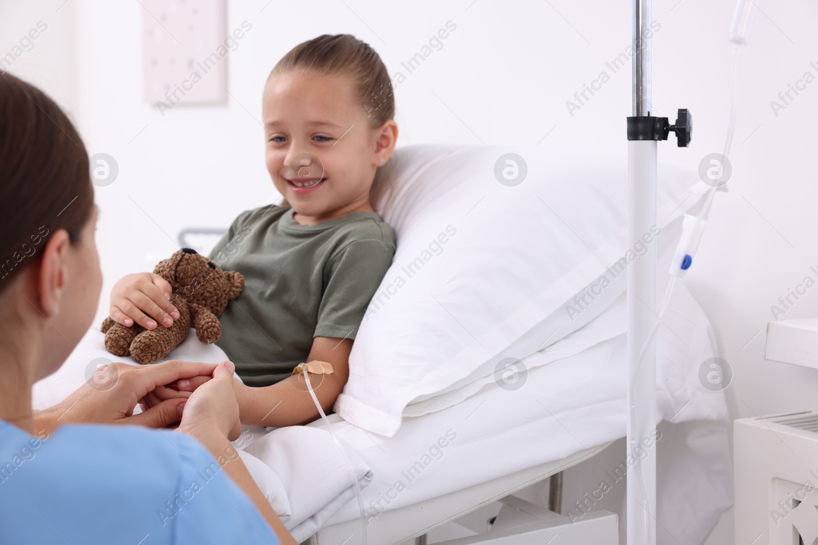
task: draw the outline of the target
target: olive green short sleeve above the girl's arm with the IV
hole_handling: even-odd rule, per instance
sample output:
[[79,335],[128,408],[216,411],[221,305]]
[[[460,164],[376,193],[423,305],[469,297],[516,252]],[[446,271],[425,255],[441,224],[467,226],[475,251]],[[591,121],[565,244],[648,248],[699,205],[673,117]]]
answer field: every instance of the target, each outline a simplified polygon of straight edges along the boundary
[[392,265],[394,251],[389,242],[360,239],[330,259],[313,337],[355,338],[366,306]]

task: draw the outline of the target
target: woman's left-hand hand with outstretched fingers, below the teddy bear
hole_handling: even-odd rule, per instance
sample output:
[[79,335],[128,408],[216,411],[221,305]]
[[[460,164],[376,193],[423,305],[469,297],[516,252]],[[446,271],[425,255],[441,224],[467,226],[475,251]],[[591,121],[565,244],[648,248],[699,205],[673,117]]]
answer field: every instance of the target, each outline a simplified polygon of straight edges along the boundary
[[216,364],[178,360],[151,365],[108,364],[61,403],[36,413],[36,426],[49,432],[67,422],[166,427],[182,418],[179,405],[185,398],[164,400],[144,413],[133,414],[137,403],[157,386],[212,375],[213,369]]

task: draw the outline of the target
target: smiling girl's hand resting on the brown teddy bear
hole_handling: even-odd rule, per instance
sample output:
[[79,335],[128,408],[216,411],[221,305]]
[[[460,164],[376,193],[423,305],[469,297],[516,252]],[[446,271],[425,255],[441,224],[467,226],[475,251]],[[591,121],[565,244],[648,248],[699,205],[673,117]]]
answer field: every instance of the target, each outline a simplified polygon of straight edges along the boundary
[[154,273],[124,275],[110,290],[108,314],[115,322],[131,327],[139,324],[155,329],[156,324],[166,328],[179,319],[179,311],[170,302],[173,292],[167,280]]

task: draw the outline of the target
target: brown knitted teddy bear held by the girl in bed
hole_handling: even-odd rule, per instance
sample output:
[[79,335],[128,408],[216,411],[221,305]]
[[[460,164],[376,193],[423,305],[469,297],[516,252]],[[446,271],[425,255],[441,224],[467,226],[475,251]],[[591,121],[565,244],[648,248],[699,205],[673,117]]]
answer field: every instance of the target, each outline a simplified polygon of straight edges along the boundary
[[109,316],[102,322],[106,350],[113,355],[130,355],[139,364],[150,364],[179,346],[191,327],[196,328],[201,342],[218,341],[222,335],[218,316],[227,302],[244,289],[245,277],[235,270],[222,270],[191,248],[182,248],[160,261],[154,273],[173,288],[170,302],[179,310],[179,319],[169,328],[158,324],[151,331],[139,324],[128,328]]

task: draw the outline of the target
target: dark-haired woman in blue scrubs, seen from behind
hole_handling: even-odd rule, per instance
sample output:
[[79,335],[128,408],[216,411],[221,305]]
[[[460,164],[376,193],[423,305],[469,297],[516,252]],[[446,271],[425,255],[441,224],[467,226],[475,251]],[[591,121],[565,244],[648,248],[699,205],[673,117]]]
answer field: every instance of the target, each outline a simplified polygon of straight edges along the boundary
[[[0,74],[0,543],[294,544],[231,446],[230,362],[111,364],[106,381],[31,409],[32,385],[97,310],[96,221],[74,126]],[[155,388],[206,376],[189,398],[133,414]]]

